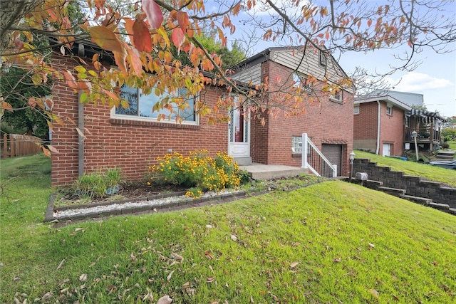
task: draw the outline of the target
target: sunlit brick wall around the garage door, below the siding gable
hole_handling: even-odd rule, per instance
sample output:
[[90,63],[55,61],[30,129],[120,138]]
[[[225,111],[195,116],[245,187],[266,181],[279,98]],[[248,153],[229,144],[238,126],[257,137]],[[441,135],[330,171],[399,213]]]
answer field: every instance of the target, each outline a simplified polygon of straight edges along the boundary
[[[292,81],[289,77],[292,70],[271,61],[263,63],[262,73],[271,80]],[[318,86],[315,88],[318,90]],[[304,105],[306,112],[302,115],[269,115],[267,164],[301,167],[301,157],[293,157],[291,153],[291,137],[306,132],[319,149],[322,144],[343,145],[341,172],[346,174],[349,171],[348,153],[353,150],[353,95],[343,92],[343,100],[343,103],[334,103],[328,95],[321,94],[317,103]]]

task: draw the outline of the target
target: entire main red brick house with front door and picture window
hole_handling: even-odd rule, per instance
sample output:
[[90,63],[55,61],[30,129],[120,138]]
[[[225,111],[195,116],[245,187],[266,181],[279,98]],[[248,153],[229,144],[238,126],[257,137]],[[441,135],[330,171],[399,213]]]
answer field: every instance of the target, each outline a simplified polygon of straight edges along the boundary
[[[323,73],[322,77],[325,70],[336,69],[337,73],[343,73],[331,56],[327,66],[318,65],[318,58],[314,56],[305,61],[312,62],[307,67],[297,68],[297,63],[303,59],[302,54],[299,58],[284,48],[269,50],[269,53],[260,53],[240,66],[254,71],[259,68],[263,79],[266,75],[269,78],[290,76],[296,70],[304,75],[306,69],[312,67]],[[54,68],[73,70],[80,64],[74,54],[83,58],[91,58],[93,53],[103,54],[91,43],[74,43],[71,51],[73,55],[66,56],[54,52]],[[277,56],[284,56],[285,62]],[[227,94],[227,90],[221,87],[207,86],[204,90],[199,98],[204,98],[209,105],[216,103],[219,95]],[[65,83],[53,83],[53,98],[56,100],[53,114],[64,117],[67,123],[64,126],[54,124],[53,127],[52,145],[58,153],[53,153],[51,159],[52,186],[71,184],[84,173],[113,167],[121,169],[124,180],[140,180],[156,157],[167,152],[187,153],[201,149],[209,150],[211,154],[225,151],[240,162],[252,159],[261,164],[301,167],[299,137],[303,132],[307,132],[316,145],[339,164],[339,175],[348,172],[348,152],[353,148],[352,92],[341,91],[332,98],[328,94],[320,95],[318,105],[309,107],[299,117],[271,117],[266,111],[263,114],[266,125],[254,119],[242,119],[240,111],[232,111],[231,122],[226,124],[209,125],[209,116],[199,117],[192,112],[180,124],[174,120],[158,121],[152,111],[142,114],[142,106],[148,106],[150,110],[157,96],[142,95],[132,88],[125,88],[122,93],[129,100],[128,109],[79,103],[78,95]],[[76,127],[90,133],[83,138]]]

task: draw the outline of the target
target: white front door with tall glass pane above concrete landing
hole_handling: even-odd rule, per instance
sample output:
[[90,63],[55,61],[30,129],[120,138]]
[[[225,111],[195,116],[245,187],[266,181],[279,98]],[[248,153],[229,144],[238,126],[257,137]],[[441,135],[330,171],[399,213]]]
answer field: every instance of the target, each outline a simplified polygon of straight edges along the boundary
[[242,108],[229,112],[228,154],[234,158],[250,157],[250,122]]

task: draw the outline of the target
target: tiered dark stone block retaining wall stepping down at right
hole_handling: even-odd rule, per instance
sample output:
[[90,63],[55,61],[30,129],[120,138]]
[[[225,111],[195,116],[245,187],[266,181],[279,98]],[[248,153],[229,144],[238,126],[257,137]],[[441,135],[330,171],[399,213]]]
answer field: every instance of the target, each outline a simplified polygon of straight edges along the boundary
[[385,187],[406,189],[406,195],[425,197],[435,203],[456,208],[456,189],[442,187],[439,182],[425,181],[421,177],[393,171],[390,167],[378,166],[370,159],[355,159],[353,172],[366,172],[368,179],[383,182]]

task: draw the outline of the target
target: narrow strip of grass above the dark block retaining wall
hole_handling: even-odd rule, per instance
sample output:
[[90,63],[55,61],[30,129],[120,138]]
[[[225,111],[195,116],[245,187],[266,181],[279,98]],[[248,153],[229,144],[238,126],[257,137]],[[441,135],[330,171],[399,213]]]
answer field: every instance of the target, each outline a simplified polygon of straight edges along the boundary
[[371,162],[376,162],[381,166],[388,166],[396,171],[403,171],[405,174],[425,177],[435,182],[442,182],[456,187],[455,170],[434,167],[418,162],[408,162],[393,157],[383,157],[376,154],[356,150],[356,158],[368,158]]

